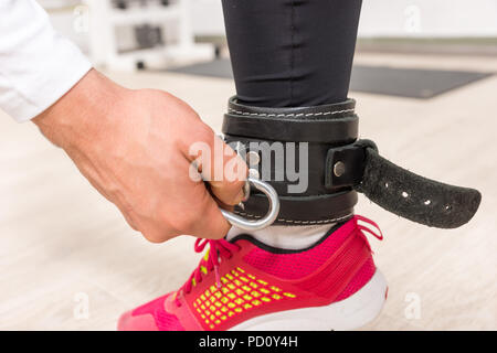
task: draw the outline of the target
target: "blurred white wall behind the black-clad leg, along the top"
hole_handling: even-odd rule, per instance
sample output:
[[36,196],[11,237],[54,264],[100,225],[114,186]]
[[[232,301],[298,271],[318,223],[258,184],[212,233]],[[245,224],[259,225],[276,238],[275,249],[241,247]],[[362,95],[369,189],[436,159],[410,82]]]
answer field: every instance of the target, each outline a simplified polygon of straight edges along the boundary
[[[362,3],[360,36],[497,36],[497,0]],[[192,17],[197,34],[224,34],[220,0],[192,0]]]

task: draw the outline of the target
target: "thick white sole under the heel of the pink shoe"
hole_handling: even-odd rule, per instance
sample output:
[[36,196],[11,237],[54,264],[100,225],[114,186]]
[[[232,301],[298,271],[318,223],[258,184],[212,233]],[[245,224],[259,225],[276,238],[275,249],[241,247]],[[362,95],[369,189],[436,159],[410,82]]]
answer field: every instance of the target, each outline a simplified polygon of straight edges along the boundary
[[377,269],[355,295],[326,307],[285,310],[253,318],[230,331],[343,331],[359,329],[378,317],[387,300],[387,280]]

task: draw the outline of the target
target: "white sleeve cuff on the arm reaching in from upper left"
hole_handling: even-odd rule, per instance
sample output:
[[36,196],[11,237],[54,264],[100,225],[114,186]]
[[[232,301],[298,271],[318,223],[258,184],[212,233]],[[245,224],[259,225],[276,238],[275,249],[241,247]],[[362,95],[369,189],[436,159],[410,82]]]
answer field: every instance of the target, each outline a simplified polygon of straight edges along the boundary
[[67,93],[92,65],[52,28],[34,0],[0,0],[0,109],[29,120]]

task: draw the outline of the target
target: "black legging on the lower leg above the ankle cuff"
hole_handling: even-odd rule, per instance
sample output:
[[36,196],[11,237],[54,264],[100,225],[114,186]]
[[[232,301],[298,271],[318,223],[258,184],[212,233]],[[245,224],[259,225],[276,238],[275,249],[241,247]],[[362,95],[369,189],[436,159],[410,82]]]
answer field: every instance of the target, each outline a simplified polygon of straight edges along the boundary
[[222,0],[242,104],[314,106],[347,98],[362,0]]

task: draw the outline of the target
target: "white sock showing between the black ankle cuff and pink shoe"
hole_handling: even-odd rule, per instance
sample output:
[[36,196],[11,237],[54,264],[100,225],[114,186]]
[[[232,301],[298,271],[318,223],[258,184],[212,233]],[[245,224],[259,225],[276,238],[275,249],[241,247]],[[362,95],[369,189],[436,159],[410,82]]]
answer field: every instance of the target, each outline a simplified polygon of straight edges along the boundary
[[226,235],[226,240],[231,240],[240,234],[250,234],[265,245],[287,250],[299,250],[316,244],[334,225],[274,225],[256,232],[247,232],[233,226]]

